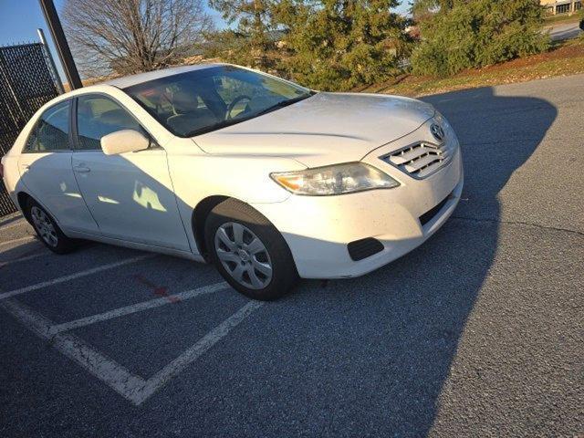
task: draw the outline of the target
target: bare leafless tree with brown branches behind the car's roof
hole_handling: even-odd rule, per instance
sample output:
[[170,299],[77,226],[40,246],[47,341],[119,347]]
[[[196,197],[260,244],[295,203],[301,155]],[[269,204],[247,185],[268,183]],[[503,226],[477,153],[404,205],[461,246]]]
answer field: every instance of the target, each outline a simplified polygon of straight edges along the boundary
[[203,0],[67,0],[63,21],[86,76],[176,63],[213,27]]

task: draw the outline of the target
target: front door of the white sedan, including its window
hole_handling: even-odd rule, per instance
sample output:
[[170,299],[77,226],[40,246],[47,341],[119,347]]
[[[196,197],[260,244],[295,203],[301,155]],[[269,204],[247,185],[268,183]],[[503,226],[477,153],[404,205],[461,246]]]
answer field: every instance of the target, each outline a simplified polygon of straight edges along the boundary
[[166,151],[152,141],[145,151],[106,155],[101,138],[117,130],[150,136],[128,110],[105,95],[76,102],[73,172],[102,235],[190,251],[172,189]]

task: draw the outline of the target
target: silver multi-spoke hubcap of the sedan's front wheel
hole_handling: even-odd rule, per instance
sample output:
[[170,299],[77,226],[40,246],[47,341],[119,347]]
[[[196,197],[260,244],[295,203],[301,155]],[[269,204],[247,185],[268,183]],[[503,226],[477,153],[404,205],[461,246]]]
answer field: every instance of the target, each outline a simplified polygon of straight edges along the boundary
[[266,245],[243,224],[228,222],[217,228],[215,253],[225,270],[245,287],[262,289],[272,280],[272,261]]

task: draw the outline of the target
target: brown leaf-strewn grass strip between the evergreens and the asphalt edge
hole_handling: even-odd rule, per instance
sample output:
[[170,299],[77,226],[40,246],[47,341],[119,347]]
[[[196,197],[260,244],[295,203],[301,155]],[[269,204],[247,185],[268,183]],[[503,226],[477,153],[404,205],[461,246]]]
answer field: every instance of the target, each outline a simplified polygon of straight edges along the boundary
[[449,78],[403,75],[356,91],[415,97],[578,73],[584,73],[584,40],[581,38],[560,44],[547,53],[514,59],[495,66],[464,70]]

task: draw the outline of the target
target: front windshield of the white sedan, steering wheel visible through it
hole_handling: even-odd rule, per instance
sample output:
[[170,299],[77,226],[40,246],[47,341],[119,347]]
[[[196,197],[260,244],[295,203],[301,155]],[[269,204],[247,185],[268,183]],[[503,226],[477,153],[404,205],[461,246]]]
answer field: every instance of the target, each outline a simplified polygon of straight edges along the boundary
[[124,91],[180,137],[219,130],[314,94],[286,80],[233,66],[158,78]]

